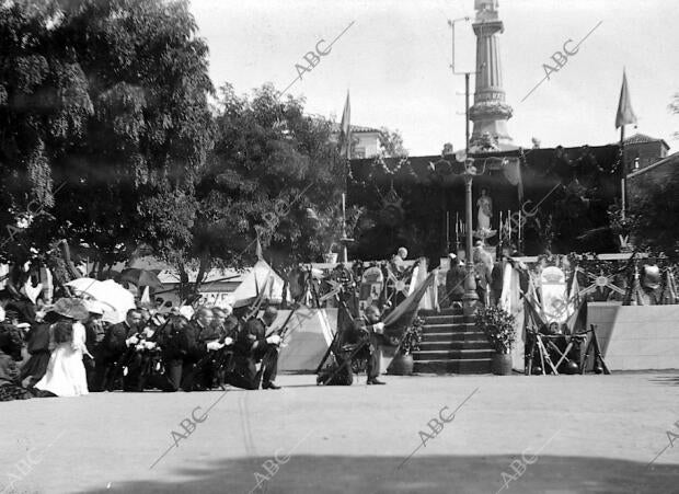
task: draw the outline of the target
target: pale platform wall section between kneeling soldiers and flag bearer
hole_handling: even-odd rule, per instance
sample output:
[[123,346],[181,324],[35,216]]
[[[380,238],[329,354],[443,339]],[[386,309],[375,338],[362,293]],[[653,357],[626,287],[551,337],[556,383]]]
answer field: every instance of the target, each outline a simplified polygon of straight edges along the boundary
[[[289,310],[278,311],[272,325],[280,328]],[[278,370],[313,372],[327,351],[337,325],[337,309],[310,309],[302,306],[292,314],[278,355]],[[269,330],[271,331],[271,330]]]

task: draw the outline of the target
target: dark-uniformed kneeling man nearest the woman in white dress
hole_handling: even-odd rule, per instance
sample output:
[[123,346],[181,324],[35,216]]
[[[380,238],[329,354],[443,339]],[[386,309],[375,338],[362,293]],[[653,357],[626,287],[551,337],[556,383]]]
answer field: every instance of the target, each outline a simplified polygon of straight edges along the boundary
[[104,391],[114,384],[116,376],[113,376],[118,360],[124,356],[127,348],[139,343],[136,334],[139,332],[141,313],[137,309],[127,311],[125,321],[113,324],[106,329],[104,338],[96,345],[94,352],[94,378],[90,391]]

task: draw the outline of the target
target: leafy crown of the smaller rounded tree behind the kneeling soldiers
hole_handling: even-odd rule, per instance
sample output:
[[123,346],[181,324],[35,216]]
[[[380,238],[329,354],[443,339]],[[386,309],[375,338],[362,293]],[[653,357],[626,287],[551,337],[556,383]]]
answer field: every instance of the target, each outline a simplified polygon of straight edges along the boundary
[[337,219],[345,162],[330,141],[331,122],[303,115],[303,100],[276,96],[271,85],[252,97],[220,89],[215,151],[198,186],[198,246],[210,256],[250,262],[256,237],[279,265],[327,252],[323,225]]

